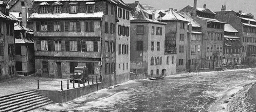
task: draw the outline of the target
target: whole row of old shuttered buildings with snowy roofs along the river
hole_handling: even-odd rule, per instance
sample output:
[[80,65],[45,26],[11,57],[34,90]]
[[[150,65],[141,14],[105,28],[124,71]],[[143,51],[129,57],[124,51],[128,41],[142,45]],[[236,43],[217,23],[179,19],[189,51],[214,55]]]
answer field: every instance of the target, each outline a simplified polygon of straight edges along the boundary
[[[29,17],[22,19],[22,24],[33,29],[34,34],[32,42],[24,36],[10,37],[5,27],[12,26],[0,23],[3,51],[8,51],[8,44],[14,45],[8,43],[11,41],[5,43],[5,38],[26,43],[21,48],[9,48],[16,49],[16,64],[4,52],[1,73],[7,77],[8,71],[15,74],[16,68],[19,74],[35,72],[68,78],[74,67],[81,65],[88,67],[89,74],[101,76],[105,86],[111,86],[144,76],[241,64],[256,52],[256,20],[252,14],[227,11],[225,6],[221,11],[211,11],[206,5],[198,8],[196,0],[193,7],[180,11],[147,10],[138,1],[126,4],[122,0],[8,3],[13,14]],[[10,16],[8,12],[4,15]],[[17,53],[22,48],[26,49]]]

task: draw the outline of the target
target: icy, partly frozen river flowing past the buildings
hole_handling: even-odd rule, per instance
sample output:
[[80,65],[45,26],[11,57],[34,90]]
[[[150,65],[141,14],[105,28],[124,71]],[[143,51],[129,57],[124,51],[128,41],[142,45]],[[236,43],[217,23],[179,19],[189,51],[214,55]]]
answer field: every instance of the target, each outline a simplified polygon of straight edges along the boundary
[[207,112],[225,90],[255,81],[255,73],[207,72],[154,81],[136,80],[76,99],[60,109],[63,112]]

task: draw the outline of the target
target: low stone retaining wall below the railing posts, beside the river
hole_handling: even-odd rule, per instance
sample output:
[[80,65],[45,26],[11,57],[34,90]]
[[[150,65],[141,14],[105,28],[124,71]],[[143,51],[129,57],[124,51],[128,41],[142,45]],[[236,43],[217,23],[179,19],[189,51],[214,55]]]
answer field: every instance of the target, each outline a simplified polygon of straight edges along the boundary
[[53,102],[68,102],[80,96],[92,93],[101,89],[102,83],[94,83],[93,85],[82,86],[79,88],[70,88],[68,90],[63,91],[54,91],[54,90],[40,90],[36,89],[42,95],[48,97]]

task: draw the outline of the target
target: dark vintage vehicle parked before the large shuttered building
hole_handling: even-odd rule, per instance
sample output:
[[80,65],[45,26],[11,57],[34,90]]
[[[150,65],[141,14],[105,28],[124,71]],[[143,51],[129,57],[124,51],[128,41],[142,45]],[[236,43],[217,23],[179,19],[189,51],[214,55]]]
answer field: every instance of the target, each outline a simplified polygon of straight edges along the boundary
[[76,66],[74,73],[69,76],[70,82],[83,83],[86,82],[88,78],[88,68],[86,66]]

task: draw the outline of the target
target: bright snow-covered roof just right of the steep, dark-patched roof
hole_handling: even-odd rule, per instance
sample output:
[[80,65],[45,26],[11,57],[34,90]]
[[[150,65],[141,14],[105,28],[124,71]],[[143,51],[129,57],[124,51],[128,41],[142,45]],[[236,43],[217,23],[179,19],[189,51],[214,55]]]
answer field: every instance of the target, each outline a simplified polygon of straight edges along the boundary
[[[149,10],[151,13],[155,14],[155,18],[157,20],[180,20],[180,21],[185,21],[189,22],[186,20],[184,17],[182,17],[180,14],[178,14],[176,11],[173,9],[157,9],[157,10]],[[160,16],[160,14],[163,13],[165,14],[163,17]]]

